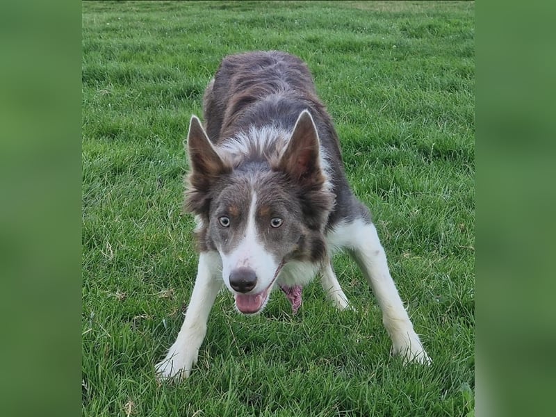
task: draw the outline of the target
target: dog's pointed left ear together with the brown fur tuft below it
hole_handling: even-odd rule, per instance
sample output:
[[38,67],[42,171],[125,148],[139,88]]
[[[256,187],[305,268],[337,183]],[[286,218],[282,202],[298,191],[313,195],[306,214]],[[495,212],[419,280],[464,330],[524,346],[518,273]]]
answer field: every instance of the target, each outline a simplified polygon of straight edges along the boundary
[[213,183],[231,167],[220,158],[196,116],[191,117],[187,137],[190,172],[187,178],[186,211],[202,213],[208,208],[208,192]]

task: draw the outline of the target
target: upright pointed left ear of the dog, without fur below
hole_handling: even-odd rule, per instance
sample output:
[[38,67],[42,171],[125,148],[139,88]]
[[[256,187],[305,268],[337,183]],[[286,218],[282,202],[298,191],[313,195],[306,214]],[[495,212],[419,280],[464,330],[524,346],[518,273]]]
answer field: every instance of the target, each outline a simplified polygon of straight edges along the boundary
[[195,115],[191,116],[189,123],[187,147],[192,175],[202,175],[210,179],[228,171],[227,164],[216,152],[201,121]]

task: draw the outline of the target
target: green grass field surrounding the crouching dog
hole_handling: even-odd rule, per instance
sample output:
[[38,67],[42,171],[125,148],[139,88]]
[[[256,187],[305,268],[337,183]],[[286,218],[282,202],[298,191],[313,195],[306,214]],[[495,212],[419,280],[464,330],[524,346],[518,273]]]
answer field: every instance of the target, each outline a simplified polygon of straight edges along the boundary
[[[474,407],[474,3],[83,3],[83,416],[470,416]],[[355,193],[434,363],[402,366],[361,273],[356,311],[315,281],[291,316],[213,306],[190,379],[158,384],[195,279],[180,214],[190,115],[223,56],[309,64]]]

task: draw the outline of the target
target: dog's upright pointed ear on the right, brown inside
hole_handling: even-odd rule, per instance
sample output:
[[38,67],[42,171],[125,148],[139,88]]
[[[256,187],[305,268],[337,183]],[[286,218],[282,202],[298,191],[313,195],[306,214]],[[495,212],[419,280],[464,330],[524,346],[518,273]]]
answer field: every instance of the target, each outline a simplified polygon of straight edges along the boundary
[[313,117],[302,111],[297,117],[288,147],[279,161],[279,170],[286,172],[294,181],[320,182],[320,142]]

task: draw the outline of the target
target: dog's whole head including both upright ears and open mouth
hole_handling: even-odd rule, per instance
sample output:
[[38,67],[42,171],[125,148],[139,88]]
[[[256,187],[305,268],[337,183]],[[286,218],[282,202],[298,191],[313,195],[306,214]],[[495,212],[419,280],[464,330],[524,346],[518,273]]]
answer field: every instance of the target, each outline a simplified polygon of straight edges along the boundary
[[333,197],[308,112],[286,143],[275,159],[238,164],[213,147],[196,117],[191,120],[186,208],[200,220],[200,249],[218,251],[222,279],[246,314],[264,308],[285,263],[326,256],[322,229]]

